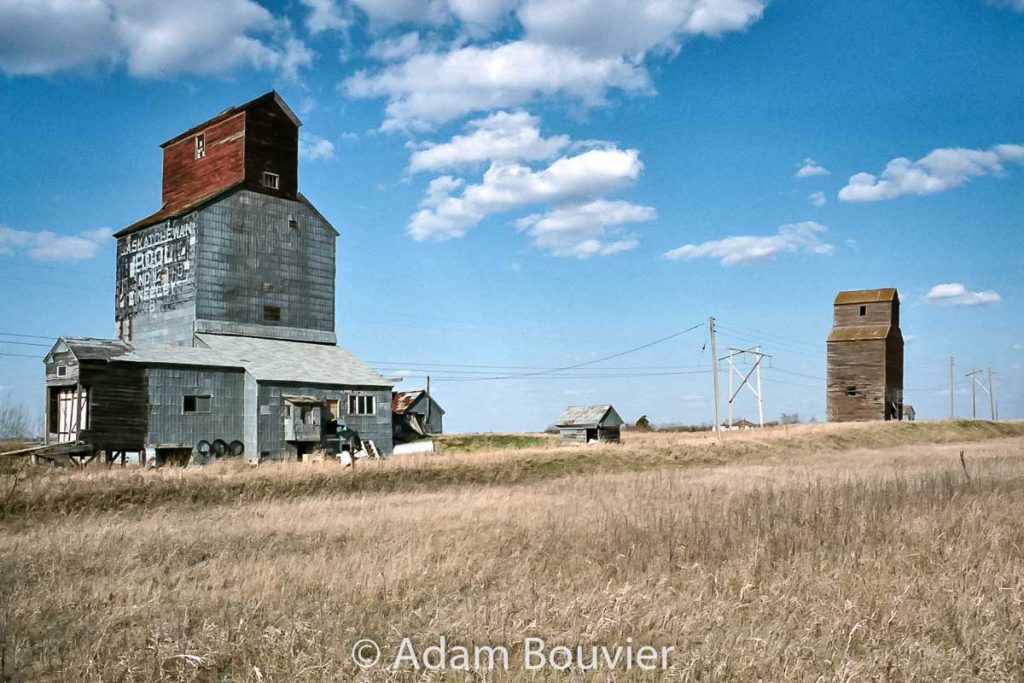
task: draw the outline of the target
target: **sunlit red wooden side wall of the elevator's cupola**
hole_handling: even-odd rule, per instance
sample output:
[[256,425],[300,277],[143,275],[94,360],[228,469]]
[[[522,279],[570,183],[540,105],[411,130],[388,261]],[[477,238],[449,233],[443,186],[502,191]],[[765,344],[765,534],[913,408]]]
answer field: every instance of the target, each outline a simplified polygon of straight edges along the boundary
[[[206,156],[196,159],[196,135],[206,136]],[[164,207],[191,201],[245,177],[246,114],[218,121],[164,147]]]

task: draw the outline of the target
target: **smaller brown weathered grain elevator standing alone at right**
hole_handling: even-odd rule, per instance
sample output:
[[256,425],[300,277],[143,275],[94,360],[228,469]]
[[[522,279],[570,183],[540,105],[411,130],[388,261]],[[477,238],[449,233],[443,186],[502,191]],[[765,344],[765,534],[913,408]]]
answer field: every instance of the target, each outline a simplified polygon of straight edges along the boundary
[[829,422],[903,418],[903,333],[895,289],[836,295],[827,346]]

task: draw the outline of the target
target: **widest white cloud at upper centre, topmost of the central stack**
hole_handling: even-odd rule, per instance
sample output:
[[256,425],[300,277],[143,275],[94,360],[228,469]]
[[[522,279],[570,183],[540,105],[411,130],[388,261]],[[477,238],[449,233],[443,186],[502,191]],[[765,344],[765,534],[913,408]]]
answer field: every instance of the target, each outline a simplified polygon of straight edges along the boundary
[[348,95],[386,97],[385,130],[428,129],[479,111],[517,106],[537,96],[566,96],[586,105],[609,90],[643,92],[646,71],[623,57],[586,57],[575,50],[514,41],[427,52],[345,81]]

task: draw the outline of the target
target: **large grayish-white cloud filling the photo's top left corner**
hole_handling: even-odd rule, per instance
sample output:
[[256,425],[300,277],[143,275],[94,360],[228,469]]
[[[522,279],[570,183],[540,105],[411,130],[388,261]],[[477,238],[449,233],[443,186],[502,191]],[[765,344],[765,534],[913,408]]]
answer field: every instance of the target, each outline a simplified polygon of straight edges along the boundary
[[254,0],[0,2],[0,71],[8,75],[124,63],[140,77],[241,67],[294,77],[311,59],[288,22]]

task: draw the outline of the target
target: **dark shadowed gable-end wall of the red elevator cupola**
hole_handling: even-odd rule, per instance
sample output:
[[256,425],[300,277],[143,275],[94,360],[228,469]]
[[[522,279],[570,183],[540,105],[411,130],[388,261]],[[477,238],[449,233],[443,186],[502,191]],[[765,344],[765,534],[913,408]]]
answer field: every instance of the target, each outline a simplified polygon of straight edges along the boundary
[[[280,177],[278,189],[263,187],[264,171]],[[299,191],[299,129],[272,99],[246,112],[245,177],[269,195]]]

